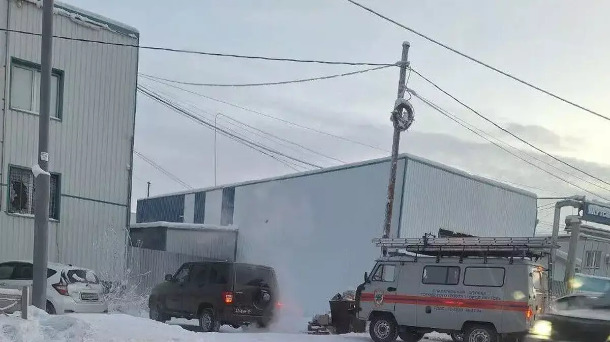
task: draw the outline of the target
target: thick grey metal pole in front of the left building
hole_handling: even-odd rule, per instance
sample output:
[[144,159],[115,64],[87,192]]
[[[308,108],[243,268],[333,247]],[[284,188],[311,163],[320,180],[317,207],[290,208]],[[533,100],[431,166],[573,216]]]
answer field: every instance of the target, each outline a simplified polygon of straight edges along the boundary
[[49,117],[51,114],[51,68],[53,37],[53,0],[43,0],[40,57],[40,115],[38,117],[38,165],[43,172],[35,179],[34,203],[34,277],[32,304],[46,308],[46,275],[49,244]]

